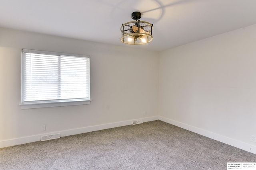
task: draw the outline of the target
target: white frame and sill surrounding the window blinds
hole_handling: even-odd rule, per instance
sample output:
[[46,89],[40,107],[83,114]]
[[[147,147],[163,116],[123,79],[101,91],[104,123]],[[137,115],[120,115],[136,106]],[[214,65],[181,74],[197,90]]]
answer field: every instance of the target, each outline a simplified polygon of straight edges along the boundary
[[[90,55],[78,55],[70,53],[59,53],[52,51],[40,51],[32,49],[22,49],[21,55],[21,109],[32,109],[32,108],[43,108],[43,107],[58,107],[58,106],[75,106],[90,104]],[[58,56],[70,56],[70,57],[86,57],[89,59],[89,89],[88,98],[78,98],[78,99],[67,99],[67,100],[44,100],[44,101],[31,101],[24,102],[24,53],[38,53],[45,55],[58,55]]]

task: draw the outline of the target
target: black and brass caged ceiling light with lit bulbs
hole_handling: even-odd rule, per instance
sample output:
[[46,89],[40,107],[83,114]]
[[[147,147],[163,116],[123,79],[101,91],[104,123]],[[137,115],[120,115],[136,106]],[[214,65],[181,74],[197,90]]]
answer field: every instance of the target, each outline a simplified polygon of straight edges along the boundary
[[121,41],[126,44],[146,44],[153,40],[152,29],[153,24],[140,21],[140,12],[133,12],[131,21],[123,23],[121,26],[122,37]]

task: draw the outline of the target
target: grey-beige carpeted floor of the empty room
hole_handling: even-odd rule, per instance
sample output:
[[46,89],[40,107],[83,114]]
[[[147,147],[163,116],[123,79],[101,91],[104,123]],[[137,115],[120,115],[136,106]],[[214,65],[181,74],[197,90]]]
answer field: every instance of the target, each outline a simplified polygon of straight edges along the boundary
[[151,121],[0,149],[0,170],[226,170],[256,154]]

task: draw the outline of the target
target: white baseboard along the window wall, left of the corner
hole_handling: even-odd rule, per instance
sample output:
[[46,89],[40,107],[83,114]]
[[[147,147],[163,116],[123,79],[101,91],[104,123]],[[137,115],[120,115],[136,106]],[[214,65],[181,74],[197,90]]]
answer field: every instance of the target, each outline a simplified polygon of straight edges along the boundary
[[[138,119],[142,119],[143,122],[154,121],[154,120],[158,120],[158,116],[138,118]],[[55,131],[55,132],[49,132],[49,133],[39,134],[39,135],[34,135],[34,136],[29,136],[29,137],[22,137],[22,138],[17,138],[17,139],[0,141],[0,148],[41,141],[42,135],[50,135],[53,133],[60,133],[60,137],[64,137],[64,136],[70,136],[70,135],[77,135],[80,133],[87,133],[87,132],[99,131],[99,130],[103,130],[103,129],[110,129],[110,128],[114,128],[114,127],[132,125],[132,121],[135,121],[138,119],[116,122],[116,123],[108,123],[108,124],[96,125],[96,126],[90,126],[90,127],[83,127],[83,128],[79,128],[79,129],[70,129],[70,130],[58,131],[58,132]]]

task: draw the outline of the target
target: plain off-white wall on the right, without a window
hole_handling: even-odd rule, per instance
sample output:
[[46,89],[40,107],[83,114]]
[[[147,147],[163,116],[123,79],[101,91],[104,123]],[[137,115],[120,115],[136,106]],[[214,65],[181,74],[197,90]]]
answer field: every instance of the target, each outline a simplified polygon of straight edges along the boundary
[[256,146],[256,25],[161,52],[159,115]]

